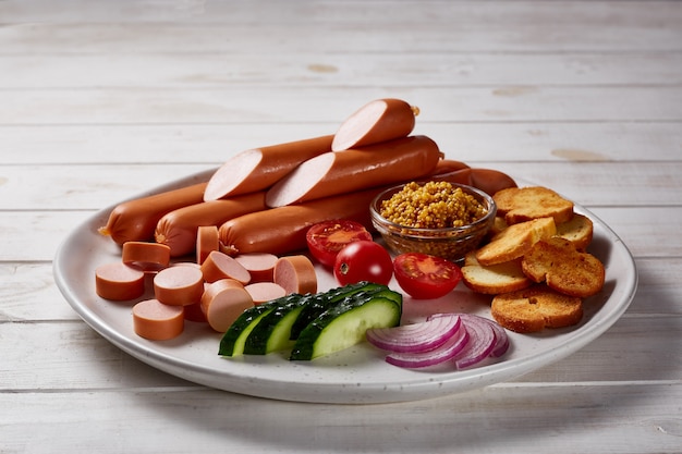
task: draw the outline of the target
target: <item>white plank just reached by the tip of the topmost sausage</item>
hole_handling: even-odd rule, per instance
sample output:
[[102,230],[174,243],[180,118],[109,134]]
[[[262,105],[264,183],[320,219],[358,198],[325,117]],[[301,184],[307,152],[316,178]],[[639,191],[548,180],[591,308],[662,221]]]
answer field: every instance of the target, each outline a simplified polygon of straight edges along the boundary
[[[3,93],[1,125],[341,122],[368,100],[409,99],[427,122],[677,122],[682,87],[301,87]],[[315,100],[300,102],[301,98]],[[319,109],[312,108],[319,106]]]

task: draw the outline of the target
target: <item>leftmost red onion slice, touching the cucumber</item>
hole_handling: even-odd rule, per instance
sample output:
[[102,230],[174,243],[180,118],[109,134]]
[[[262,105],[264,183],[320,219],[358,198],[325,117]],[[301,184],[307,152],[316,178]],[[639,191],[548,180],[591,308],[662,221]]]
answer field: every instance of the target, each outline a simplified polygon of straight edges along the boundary
[[461,327],[460,317],[449,314],[419,323],[367,330],[367,341],[390,352],[416,353],[439,347]]

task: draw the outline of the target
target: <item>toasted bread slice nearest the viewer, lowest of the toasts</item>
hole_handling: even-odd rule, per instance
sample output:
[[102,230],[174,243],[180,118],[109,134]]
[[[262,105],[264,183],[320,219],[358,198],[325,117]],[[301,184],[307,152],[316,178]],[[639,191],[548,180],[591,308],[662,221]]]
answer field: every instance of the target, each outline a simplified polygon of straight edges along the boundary
[[532,333],[545,328],[576,324],[583,318],[583,300],[563,295],[544,284],[496,295],[490,308],[492,318],[508,330]]

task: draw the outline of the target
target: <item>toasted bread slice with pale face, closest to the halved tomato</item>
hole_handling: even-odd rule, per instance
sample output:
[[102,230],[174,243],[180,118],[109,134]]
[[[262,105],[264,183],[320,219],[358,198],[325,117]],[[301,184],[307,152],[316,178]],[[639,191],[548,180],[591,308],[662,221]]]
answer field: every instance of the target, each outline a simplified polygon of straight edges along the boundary
[[474,292],[487,295],[514,292],[533,283],[523,273],[520,259],[484,267],[473,251],[464,257],[462,280]]

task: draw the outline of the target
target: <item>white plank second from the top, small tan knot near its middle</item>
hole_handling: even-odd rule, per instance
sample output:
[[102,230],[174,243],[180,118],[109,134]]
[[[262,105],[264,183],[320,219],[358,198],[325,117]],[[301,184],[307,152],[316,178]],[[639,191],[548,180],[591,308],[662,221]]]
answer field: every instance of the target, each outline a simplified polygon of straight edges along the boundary
[[[3,88],[679,85],[680,52],[5,54]],[[88,71],[74,72],[73,68]],[[125,69],[135,71],[125,71]],[[272,72],[277,68],[277,73]],[[425,74],[428,72],[428,75]],[[49,74],[49,77],[45,75]],[[144,77],[141,77],[144,74]]]

